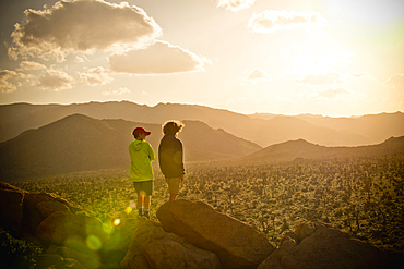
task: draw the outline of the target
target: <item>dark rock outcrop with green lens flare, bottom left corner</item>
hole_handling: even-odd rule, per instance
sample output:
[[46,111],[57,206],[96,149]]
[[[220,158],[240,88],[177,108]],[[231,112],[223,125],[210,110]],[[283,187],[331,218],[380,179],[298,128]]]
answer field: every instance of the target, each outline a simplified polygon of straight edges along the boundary
[[[119,268],[130,243],[124,229],[106,232],[105,225],[80,206],[55,194],[28,193],[2,182],[0,225],[44,249],[39,269]],[[133,225],[127,228],[133,231]]]

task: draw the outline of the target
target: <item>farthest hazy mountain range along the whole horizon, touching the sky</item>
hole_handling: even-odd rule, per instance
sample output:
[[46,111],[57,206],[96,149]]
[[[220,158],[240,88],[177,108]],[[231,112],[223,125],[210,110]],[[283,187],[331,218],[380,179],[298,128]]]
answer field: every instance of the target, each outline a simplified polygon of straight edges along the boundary
[[193,120],[213,129],[223,129],[262,147],[295,139],[324,146],[379,144],[391,136],[404,135],[404,114],[381,113],[357,118],[329,118],[301,114],[246,115],[195,105],[158,103],[155,107],[129,101],[73,105],[14,103],[0,106],[0,142],[29,129],[38,129],[67,115],[81,113],[94,119],[122,119],[162,124],[167,120]]

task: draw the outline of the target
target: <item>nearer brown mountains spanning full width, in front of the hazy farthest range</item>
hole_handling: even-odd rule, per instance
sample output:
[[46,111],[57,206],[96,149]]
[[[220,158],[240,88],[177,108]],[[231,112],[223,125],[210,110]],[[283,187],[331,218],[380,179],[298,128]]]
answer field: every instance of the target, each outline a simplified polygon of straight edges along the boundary
[[[179,138],[185,145],[185,161],[241,160],[242,162],[289,161],[295,159],[346,159],[404,154],[404,136],[384,143],[357,147],[326,147],[304,139],[262,148],[223,129],[214,130],[200,121],[183,121]],[[126,120],[98,120],[83,114],[68,115],[45,126],[28,130],[0,143],[0,178],[16,179],[64,174],[78,171],[128,169],[128,146],[132,131],[143,126],[157,155],[162,125]],[[158,166],[158,161],[154,162]]]

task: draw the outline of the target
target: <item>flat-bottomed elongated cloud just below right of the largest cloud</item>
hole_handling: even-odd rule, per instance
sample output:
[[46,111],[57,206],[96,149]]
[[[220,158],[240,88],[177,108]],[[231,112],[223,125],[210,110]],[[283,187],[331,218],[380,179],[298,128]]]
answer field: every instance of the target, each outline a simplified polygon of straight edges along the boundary
[[155,41],[145,49],[129,50],[109,57],[111,71],[131,74],[173,74],[202,71],[206,60],[165,41]]

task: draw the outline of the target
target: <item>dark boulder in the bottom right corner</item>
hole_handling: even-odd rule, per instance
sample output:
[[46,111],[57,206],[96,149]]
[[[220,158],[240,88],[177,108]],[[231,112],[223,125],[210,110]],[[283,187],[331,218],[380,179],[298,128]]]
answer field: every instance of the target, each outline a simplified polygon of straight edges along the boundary
[[404,268],[403,256],[352,239],[329,224],[307,222],[287,233],[258,269]]

